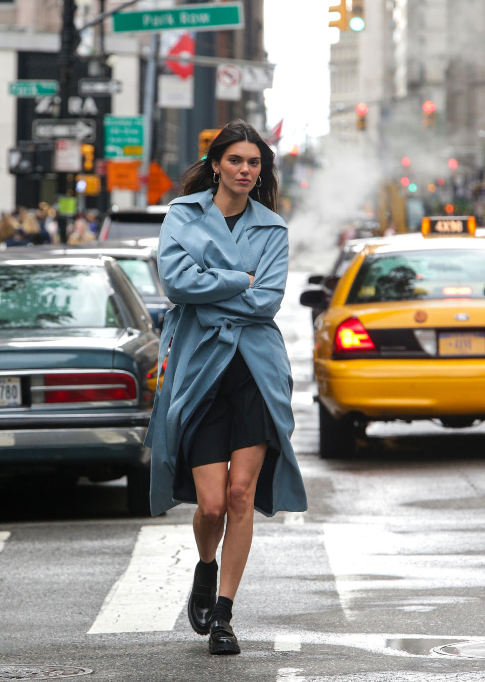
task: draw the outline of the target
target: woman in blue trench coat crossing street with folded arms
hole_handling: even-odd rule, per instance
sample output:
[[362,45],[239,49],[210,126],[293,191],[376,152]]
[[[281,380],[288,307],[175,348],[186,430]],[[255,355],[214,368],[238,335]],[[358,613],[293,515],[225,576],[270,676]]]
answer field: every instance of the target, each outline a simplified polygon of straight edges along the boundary
[[170,356],[145,440],[151,511],[196,503],[200,561],[188,617],[195,632],[209,634],[210,653],[239,653],[230,623],[254,509],[265,516],[306,509],[290,443],[291,369],[274,323],[288,235],[274,213],[274,154],[248,123],[225,125],[182,181],[158,249],[175,306],[164,321],[159,366],[169,344]]

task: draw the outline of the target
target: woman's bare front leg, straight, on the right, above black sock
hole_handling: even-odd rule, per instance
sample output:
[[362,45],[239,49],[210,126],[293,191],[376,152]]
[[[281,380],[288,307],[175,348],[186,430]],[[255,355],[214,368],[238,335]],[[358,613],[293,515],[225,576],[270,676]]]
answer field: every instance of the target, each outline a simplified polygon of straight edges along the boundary
[[222,597],[234,599],[252,542],[254,493],[267,445],[254,445],[231,454],[227,483],[227,524],[222,544],[220,588]]

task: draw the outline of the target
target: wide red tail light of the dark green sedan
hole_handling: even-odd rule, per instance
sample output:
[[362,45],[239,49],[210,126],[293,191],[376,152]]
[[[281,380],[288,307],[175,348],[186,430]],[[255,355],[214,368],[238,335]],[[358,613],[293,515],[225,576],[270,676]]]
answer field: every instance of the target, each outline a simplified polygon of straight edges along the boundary
[[118,372],[44,374],[42,392],[48,404],[134,400],[136,383],[130,374]]

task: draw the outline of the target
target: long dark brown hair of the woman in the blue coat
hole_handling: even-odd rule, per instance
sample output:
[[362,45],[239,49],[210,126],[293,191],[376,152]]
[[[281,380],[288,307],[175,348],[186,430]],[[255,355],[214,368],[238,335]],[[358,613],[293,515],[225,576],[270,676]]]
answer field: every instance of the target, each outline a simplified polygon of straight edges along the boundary
[[212,140],[207,156],[192,164],[181,177],[182,194],[203,192],[214,185],[212,161],[220,162],[224,151],[236,142],[250,142],[257,145],[261,153],[261,186],[254,187],[249,196],[259,201],[271,211],[278,205],[278,176],[274,165],[274,153],[265,143],[259,132],[242,119],[230,121],[224,125],[218,136]]

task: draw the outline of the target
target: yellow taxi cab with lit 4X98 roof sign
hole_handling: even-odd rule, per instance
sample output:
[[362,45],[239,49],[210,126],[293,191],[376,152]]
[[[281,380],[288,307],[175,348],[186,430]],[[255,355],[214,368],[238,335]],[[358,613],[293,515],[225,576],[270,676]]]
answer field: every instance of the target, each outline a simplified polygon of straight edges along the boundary
[[370,421],[485,419],[485,240],[474,230],[474,218],[424,218],[424,239],[353,258],[315,322],[323,457],[351,454]]

